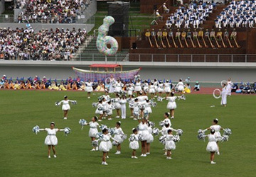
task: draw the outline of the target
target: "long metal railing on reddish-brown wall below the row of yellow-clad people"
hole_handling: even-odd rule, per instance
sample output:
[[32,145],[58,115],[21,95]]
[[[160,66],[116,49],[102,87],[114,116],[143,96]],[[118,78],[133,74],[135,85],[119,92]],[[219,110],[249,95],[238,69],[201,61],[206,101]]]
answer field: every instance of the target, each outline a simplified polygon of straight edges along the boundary
[[129,54],[129,62],[256,62],[256,54]]

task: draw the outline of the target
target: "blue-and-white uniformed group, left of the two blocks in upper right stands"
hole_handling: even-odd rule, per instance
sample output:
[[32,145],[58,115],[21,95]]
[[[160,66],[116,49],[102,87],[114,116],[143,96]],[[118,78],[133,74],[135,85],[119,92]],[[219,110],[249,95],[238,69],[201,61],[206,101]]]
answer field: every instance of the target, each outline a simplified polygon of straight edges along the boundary
[[210,3],[198,5],[191,3],[187,7],[179,6],[166,21],[166,27],[191,28],[193,25],[193,28],[199,28],[203,21],[206,21],[209,14],[213,12],[213,8],[215,8],[215,4]]

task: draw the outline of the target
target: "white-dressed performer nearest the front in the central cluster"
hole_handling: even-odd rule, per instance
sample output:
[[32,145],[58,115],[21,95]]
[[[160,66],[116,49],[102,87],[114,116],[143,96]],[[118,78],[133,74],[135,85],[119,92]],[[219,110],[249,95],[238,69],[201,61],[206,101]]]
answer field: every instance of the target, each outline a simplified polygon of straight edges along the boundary
[[100,142],[99,149],[100,149],[101,152],[103,152],[102,165],[108,165],[107,162],[106,162],[106,158],[109,158],[108,157],[108,152],[110,152],[110,149],[112,149],[112,143],[110,142],[110,139],[113,139],[116,142],[118,142],[118,141],[117,141],[117,139],[114,139],[114,138],[111,137],[107,128],[102,130],[102,133],[103,133],[102,141]]

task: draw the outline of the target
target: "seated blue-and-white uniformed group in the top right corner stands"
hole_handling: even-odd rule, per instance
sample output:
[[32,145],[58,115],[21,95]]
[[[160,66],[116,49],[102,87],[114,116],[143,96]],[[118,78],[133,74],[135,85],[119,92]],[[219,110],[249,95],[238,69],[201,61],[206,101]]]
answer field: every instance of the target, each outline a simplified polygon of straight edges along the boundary
[[254,28],[256,1],[231,1],[215,20],[216,28]]

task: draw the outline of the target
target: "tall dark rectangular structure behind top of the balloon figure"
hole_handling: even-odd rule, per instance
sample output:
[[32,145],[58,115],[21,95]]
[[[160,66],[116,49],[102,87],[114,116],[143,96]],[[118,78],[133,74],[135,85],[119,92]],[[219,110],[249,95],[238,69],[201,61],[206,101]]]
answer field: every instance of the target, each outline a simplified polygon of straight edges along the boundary
[[128,37],[129,30],[129,2],[114,1],[107,3],[108,16],[114,18],[108,35]]

